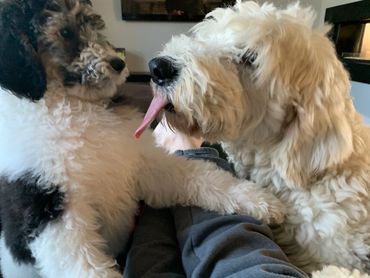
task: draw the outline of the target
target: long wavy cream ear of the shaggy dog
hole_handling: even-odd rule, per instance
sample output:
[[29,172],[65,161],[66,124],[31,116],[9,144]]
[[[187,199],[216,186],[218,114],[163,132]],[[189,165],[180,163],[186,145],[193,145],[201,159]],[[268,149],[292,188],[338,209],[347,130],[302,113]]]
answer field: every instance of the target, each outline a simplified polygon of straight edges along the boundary
[[274,167],[290,188],[308,189],[307,185],[336,169],[354,151],[356,136],[348,115],[353,117],[355,109],[348,93],[348,75],[339,63],[333,68],[325,65],[335,74],[317,88],[301,92],[310,96],[310,101],[301,99],[292,105],[284,137],[272,155]]

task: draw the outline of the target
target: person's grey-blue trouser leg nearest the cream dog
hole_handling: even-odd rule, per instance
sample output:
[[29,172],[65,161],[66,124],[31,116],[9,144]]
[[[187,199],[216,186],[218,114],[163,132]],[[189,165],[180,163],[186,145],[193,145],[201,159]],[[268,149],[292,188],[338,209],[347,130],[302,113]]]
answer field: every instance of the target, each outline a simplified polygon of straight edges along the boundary
[[195,207],[172,209],[187,277],[308,277],[254,218]]

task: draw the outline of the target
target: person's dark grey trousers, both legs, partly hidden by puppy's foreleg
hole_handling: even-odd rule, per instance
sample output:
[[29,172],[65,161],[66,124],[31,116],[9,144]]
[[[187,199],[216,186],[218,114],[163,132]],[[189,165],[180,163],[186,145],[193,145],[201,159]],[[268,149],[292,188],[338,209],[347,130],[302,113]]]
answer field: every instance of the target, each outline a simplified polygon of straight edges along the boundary
[[[207,159],[231,170],[210,148],[177,155]],[[219,215],[196,207],[145,207],[133,234],[124,277],[308,276],[289,263],[272,240],[270,228],[254,218]]]

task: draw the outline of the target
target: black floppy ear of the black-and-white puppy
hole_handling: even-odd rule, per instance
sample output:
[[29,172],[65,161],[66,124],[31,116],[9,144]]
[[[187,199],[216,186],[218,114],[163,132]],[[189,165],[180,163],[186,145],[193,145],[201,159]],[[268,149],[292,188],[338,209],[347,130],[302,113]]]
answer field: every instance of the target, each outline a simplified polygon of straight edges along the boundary
[[19,97],[39,100],[46,91],[46,74],[30,23],[43,1],[27,2],[0,3],[0,86]]

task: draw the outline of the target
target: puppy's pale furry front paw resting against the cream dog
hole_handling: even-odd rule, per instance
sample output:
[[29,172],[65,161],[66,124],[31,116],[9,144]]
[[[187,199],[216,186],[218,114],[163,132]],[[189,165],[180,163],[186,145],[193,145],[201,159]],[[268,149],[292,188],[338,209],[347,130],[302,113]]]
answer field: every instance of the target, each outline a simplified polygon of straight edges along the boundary
[[231,189],[236,201],[236,213],[249,215],[266,224],[280,224],[285,218],[285,206],[272,193],[250,182],[241,183]]

